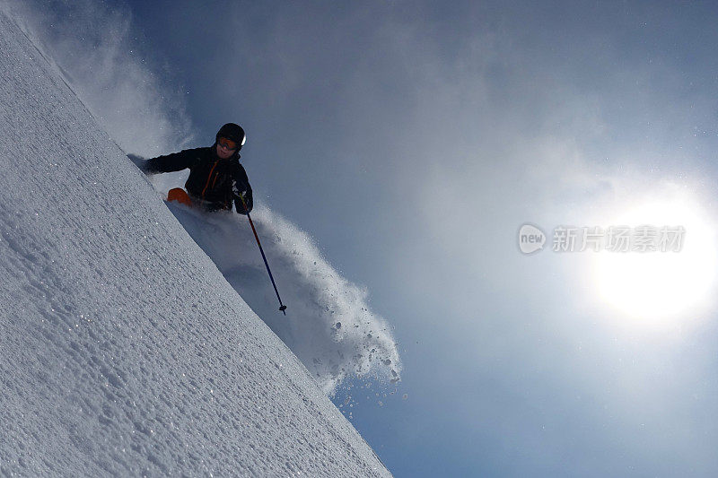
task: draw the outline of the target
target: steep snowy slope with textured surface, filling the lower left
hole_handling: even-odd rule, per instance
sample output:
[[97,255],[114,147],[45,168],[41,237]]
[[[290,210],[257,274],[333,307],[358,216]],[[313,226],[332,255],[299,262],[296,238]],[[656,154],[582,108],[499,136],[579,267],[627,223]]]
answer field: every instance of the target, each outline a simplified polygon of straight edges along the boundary
[[0,474],[387,475],[0,9]]

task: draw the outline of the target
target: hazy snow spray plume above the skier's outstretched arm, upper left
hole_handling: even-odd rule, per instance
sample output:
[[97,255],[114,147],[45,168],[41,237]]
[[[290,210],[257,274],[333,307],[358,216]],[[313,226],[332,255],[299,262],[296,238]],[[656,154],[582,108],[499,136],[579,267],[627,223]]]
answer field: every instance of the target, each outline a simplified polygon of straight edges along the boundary
[[138,53],[127,7],[93,0],[12,0],[4,7],[22,18],[23,29],[123,150],[152,157],[191,141],[174,133],[190,131],[180,89]]

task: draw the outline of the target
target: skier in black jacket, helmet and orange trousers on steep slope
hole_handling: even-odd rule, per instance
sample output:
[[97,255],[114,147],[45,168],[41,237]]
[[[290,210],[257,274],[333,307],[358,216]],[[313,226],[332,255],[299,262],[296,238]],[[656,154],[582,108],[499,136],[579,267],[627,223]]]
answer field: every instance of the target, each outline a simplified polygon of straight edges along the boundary
[[142,169],[155,174],[189,168],[187,192],[180,187],[172,189],[170,201],[200,205],[207,211],[231,211],[234,203],[237,213],[246,215],[252,210],[252,188],[240,164],[246,140],[241,126],[227,123],[219,128],[212,146],[158,156],[145,161]]

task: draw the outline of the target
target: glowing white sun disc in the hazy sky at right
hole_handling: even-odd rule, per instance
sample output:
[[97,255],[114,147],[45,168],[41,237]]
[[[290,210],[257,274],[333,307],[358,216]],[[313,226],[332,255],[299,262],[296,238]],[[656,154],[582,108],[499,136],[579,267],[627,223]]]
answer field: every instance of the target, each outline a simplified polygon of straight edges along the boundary
[[617,214],[614,225],[682,227],[679,251],[609,252],[595,255],[595,290],[623,316],[661,321],[705,307],[714,285],[714,228],[699,204],[685,198],[649,201]]

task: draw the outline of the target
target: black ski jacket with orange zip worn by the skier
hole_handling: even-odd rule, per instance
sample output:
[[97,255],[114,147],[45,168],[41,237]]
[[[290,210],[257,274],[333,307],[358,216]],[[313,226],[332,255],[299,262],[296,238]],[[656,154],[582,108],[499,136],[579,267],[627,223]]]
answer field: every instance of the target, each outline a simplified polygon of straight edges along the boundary
[[[232,203],[237,213],[247,214],[252,210],[252,188],[238,153],[223,160],[217,156],[216,146],[210,146],[158,156],[144,163],[144,171],[149,174],[187,168],[189,178],[185,188],[193,201],[204,204],[210,211],[232,210]],[[247,204],[247,211],[240,194]]]

